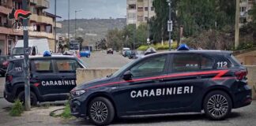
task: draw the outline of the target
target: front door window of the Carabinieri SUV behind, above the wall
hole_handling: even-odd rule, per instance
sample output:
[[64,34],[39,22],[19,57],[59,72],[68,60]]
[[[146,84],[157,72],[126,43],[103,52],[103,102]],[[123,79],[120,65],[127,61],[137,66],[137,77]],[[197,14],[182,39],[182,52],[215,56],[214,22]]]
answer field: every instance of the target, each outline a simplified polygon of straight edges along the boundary
[[56,60],[58,72],[76,72],[80,68],[75,60]]

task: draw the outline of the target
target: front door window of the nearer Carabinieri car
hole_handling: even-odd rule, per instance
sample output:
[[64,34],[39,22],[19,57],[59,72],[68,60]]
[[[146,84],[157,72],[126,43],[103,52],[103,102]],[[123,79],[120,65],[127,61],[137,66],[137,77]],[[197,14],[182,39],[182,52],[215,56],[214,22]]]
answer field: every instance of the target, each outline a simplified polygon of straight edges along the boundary
[[134,77],[138,76],[154,76],[164,72],[164,66],[167,56],[152,57],[141,61],[130,69]]

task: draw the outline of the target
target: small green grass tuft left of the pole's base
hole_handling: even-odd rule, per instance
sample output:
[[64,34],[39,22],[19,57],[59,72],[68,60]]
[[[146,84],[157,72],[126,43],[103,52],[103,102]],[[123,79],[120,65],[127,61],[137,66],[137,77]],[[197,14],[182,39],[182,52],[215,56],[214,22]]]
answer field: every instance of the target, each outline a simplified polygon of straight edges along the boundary
[[9,111],[9,115],[12,117],[21,117],[21,113],[24,111],[24,106],[20,100],[16,100]]

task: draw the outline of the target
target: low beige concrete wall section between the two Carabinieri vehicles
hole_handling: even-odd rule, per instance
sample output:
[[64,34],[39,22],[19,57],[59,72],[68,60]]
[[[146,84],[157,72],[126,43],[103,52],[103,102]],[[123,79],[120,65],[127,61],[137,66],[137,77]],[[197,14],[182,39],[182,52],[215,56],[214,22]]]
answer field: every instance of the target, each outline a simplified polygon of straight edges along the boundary
[[90,80],[106,77],[117,70],[119,69],[77,69],[77,85]]

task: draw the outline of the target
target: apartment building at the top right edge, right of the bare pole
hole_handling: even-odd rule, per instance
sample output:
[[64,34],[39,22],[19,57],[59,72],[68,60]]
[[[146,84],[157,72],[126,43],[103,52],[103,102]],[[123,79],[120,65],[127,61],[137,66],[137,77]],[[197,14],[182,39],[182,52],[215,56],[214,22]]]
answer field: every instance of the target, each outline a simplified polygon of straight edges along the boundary
[[256,0],[240,0],[240,27],[242,27],[243,24],[252,21],[249,13],[254,4],[256,4]]

